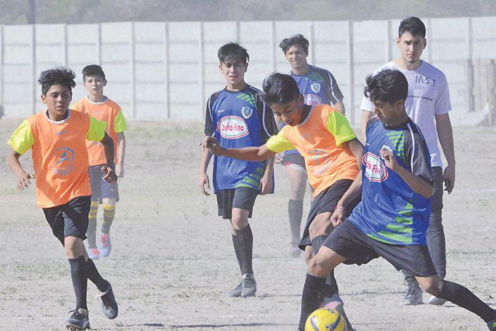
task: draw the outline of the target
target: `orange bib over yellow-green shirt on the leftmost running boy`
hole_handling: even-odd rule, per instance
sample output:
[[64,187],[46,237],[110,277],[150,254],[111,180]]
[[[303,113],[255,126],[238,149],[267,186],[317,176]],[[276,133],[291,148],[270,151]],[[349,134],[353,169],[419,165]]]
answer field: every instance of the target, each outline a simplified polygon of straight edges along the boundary
[[62,121],[40,112],[25,119],[7,143],[19,154],[32,148],[36,201],[49,208],[92,195],[86,139],[99,142],[104,135],[105,123],[83,112],[68,110]]

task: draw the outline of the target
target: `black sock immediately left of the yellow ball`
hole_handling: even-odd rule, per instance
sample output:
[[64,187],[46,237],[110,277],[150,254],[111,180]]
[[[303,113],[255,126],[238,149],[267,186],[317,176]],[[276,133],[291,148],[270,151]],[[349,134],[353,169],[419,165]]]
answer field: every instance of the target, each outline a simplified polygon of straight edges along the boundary
[[325,278],[318,278],[307,273],[301,296],[300,331],[305,330],[305,321],[309,314],[320,306],[323,300]]

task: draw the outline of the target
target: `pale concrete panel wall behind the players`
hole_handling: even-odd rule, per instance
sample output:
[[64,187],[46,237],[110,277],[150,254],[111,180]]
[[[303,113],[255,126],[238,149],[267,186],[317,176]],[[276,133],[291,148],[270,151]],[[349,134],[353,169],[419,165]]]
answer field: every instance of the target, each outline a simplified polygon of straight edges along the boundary
[[[450,83],[454,124],[469,111],[468,60],[496,58],[496,17],[423,19],[422,58],[443,70]],[[128,119],[201,121],[205,100],[220,90],[216,51],[238,41],[250,53],[248,83],[260,87],[272,71],[290,67],[278,44],[302,33],[311,42],[309,62],[332,71],[345,96],[348,117],[358,110],[367,74],[398,56],[399,20],[364,22],[123,22],[1,26],[0,104],[6,117],[43,109],[40,71],[67,65],[78,74],[74,99],[85,95],[81,69],[99,63],[108,78],[105,94]]]

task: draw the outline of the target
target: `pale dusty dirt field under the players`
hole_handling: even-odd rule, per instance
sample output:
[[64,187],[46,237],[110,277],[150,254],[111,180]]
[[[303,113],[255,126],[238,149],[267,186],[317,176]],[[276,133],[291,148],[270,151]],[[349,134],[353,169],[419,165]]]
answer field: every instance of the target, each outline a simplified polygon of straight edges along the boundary
[[[35,204],[34,188],[18,193],[5,165],[5,142],[19,123],[0,120],[0,330],[63,330],[74,308],[69,264]],[[257,297],[228,298],[239,269],[215,198],[198,192],[201,132],[199,125],[130,124],[113,251],[96,262],[112,282],[120,312],[105,319],[89,283],[94,330],[296,330],[305,263],[288,254],[284,169],[276,167],[276,194],[258,198],[251,221]],[[496,130],[457,128],[455,141],[456,187],[445,196],[443,214],[447,279],[496,308]],[[22,163],[31,168],[31,155]],[[306,198],[305,212],[308,207]],[[359,331],[487,330],[450,303],[400,306],[402,276],[384,260],[339,266],[336,278]]]

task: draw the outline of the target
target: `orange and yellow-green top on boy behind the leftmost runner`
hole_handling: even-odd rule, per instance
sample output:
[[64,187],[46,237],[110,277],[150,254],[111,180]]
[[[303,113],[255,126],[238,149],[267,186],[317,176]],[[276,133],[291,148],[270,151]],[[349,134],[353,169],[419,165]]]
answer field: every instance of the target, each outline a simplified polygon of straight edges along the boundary
[[[84,97],[74,103],[74,105],[71,106],[71,109],[77,110],[78,112],[86,112],[89,116],[94,117],[99,121],[105,121],[107,124],[107,134],[114,140],[114,162],[117,163],[117,133],[121,133],[128,128],[121,107],[108,98],[102,102],[93,102],[89,101],[87,97]],[[90,166],[105,164],[107,162],[102,144],[87,140],[86,147],[88,150]]]

